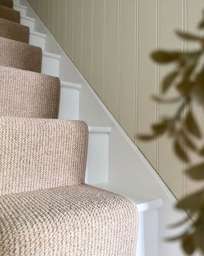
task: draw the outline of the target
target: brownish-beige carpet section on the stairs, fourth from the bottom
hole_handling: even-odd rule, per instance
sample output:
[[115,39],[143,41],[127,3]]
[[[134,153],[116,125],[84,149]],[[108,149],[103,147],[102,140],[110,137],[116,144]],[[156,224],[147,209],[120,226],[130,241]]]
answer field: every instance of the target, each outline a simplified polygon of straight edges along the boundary
[[40,73],[42,49],[0,37],[0,65]]

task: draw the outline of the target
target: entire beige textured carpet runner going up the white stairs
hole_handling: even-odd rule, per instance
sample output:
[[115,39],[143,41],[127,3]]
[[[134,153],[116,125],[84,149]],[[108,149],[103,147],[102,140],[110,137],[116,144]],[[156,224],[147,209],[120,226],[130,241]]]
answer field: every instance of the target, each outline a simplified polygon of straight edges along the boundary
[[[12,1],[0,5],[12,8]],[[84,184],[88,126],[57,119],[60,80],[37,73],[42,50],[28,45],[29,27],[6,7],[0,6],[0,256],[134,256],[136,205]]]

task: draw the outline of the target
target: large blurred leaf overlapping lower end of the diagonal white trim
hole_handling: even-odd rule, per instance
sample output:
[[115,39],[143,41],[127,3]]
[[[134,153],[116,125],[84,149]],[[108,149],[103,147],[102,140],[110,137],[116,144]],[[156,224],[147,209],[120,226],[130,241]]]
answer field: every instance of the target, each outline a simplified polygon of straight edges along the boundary
[[188,195],[177,203],[176,208],[185,211],[198,209],[201,206],[203,195],[203,191]]

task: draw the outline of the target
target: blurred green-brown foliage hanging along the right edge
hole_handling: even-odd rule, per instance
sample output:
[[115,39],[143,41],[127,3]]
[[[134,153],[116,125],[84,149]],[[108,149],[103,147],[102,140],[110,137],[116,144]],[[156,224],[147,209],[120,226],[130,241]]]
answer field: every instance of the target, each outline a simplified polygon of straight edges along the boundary
[[[199,29],[204,30],[203,20]],[[196,139],[201,141],[202,134],[192,103],[198,102],[204,110],[204,37],[189,33],[177,32],[177,35],[187,42],[198,42],[199,48],[195,51],[155,51],[151,58],[158,64],[174,64],[175,69],[164,77],[161,84],[161,93],[165,95],[170,88],[174,87],[178,97],[173,99],[158,98],[154,100],[162,104],[177,104],[176,114],[171,117],[164,117],[157,124],[151,125],[152,134],[140,135],[139,139],[149,141],[163,134],[173,140],[173,149],[180,160],[191,164],[191,157],[187,153],[192,151],[204,159],[204,145],[199,148]],[[176,105],[176,106],[177,106]],[[197,166],[191,166],[186,170],[187,175],[193,180],[204,181],[204,160]],[[189,215],[174,227],[187,225],[185,232],[178,237],[169,240],[181,240],[182,248],[186,254],[192,255],[196,250],[204,254],[204,188],[198,192],[183,198],[176,207],[187,211]],[[194,221],[190,221],[191,217]]]

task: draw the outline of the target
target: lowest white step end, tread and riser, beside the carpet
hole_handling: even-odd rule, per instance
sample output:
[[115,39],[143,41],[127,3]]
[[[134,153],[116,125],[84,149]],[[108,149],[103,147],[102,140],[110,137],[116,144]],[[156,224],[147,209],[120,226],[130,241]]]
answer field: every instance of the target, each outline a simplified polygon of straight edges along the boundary
[[162,200],[111,182],[91,184],[130,198],[139,211],[139,232],[136,256],[158,256],[158,209]]

